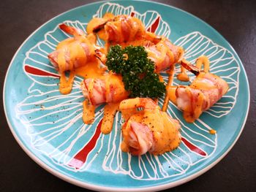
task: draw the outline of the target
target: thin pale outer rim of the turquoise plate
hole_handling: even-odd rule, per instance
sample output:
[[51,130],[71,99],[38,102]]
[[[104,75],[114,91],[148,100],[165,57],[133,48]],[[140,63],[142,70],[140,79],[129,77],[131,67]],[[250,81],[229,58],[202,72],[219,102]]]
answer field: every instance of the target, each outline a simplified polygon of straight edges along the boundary
[[[111,0],[112,1],[112,0]],[[124,1],[124,0],[114,0],[115,2],[118,2],[118,1]],[[219,35],[219,37],[222,38],[222,40],[224,40],[225,42],[227,42],[227,45],[230,47],[231,50],[233,50],[234,53],[236,53],[236,50],[233,48],[232,45],[230,45],[230,42],[227,41],[227,39],[225,39],[222,34],[220,34],[215,28],[213,28],[212,26],[210,26],[208,23],[206,23],[206,21],[200,19],[200,18],[197,18],[197,16],[195,15],[192,15],[192,13],[189,13],[187,11],[185,11],[184,9],[180,9],[178,7],[174,7],[174,6],[171,6],[169,4],[163,4],[163,3],[160,3],[160,2],[156,2],[156,1],[147,1],[147,0],[131,0],[131,1],[142,1],[142,2],[146,2],[146,3],[152,3],[152,4],[161,4],[165,7],[170,7],[172,9],[176,9],[180,12],[184,12],[186,13],[187,15],[189,15],[190,17],[192,18],[195,18],[197,20],[200,20],[200,22],[202,22],[204,25],[208,26],[209,28],[211,28],[211,30],[213,30],[215,33],[217,33]],[[12,132],[12,135],[15,137],[15,140],[18,142],[18,145],[20,145],[20,147],[25,151],[25,153],[27,155],[29,155],[29,157],[34,161],[36,162],[39,166],[41,166],[43,169],[45,169],[46,171],[50,172],[50,174],[53,174],[54,176],[56,177],[59,177],[61,180],[64,180],[68,183],[71,183],[73,185],[77,185],[79,187],[82,187],[82,188],[88,188],[88,189],[91,189],[91,190],[94,190],[94,191],[160,191],[160,190],[165,190],[167,188],[173,188],[175,186],[178,186],[178,185],[181,185],[181,184],[184,184],[184,183],[187,183],[189,182],[190,180],[193,180],[195,179],[196,177],[199,177],[201,174],[207,172],[209,169],[211,169],[213,166],[215,166],[216,164],[219,163],[219,161],[222,160],[222,158],[225,157],[225,155],[227,155],[227,153],[230,152],[230,150],[233,148],[233,146],[236,144],[237,140],[239,139],[239,137],[241,136],[241,133],[242,131],[244,130],[244,126],[245,126],[245,123],[246,123],[246,120],[248,118],[248,114],[249,114],[249,106],[250,106],[250,88],[249,88],[249,80],[248,80],[248,77],[247,77],[247,74],[246,74],[246,70],[244,69],[244,65],[243,63],[241,62],[241,59],[240,57],[238,56],[238,53],[236,53],[236,57],[238,59],[238,65],[241,67],[242,71],[244,72],[244,76],[245,76],[245,80],[246,80],[246,89],[248,90],[248,102],[247,102],[247,109],[246,109],[246,115],[244,117],[244,122],[243,124],[241,125],[241,130],[239,131],[238,135],[236,136],[236,139],[233,141],[233,143],[230,145],[230,147],[227,148],[227,150],[225,150],[224,153],[222,153],[222,155],[220,155],[214,162],[212,162],[211,164],[208,164],[206,167],[204,167],[203,169],[201,169],[200,171],[198,172],[195,172],[194,174],[191,174],[189,175],[189,177],[185,177],[181,180],[176,180],[176,181],[173,181],[171,183],[165,183],[165,184],[159,184],[159,185],[156,185],[156,186],[148,186],[148,187],[143,187],[143,188],[115,188],[115,187],[107,187],[107,186],[103,186],[103,185],[94,185],[94,184],[91,184],[91,183],[86,183],[86,182],[83,182],[83,181],[80,181],[80,180],[75,180],[74,178],[72,177],[69,177],[67,176],[66,174],[63,174],[61,172],[58,172],[57,170],[51,168],[50,166],[48,166],[48,164],[46,164],[45,162],[41,161],[37,155],[35,155],[34,153],[32,153],[32,151],[29,150],[29,148],[27,148],[25,145],[23,145],[23,143],[21,142],[20,138],[18,137],[18,135],[16,134],[14,128],[12,127],[12,123],[10,123],[10,118],[7,116],[7,107],[6,107],[6,102],[5,102],[5,91],[6,91],[6,86],[7,86],[7,76],[10,72],[10,67],[12,66],[12,63],[14,61],[14,59],[16,58],[16,56],[18,55],[18,52],[20,51],[20,49],[23,47],[23,45],[30,39],[30,37],[32,37],[35,33],[37,33],[37,31],[39,31],[39,29],[41,29],[43,26],[47,25],[48,23],[50,23],[50,21],[58,18],[59,16],[61,15],[64,15],[66,14],[67,12],[71,12],[71,11],[74,11],[75,9],[80,9],[80,7],[84,7],[84,6],[88,6],[88,5],[91,5],[91,4],[101,4],[105,1],[96,1],[96,2],[93,2],[93,3],[90,3],[90,4],[83,4],[83,5],[80,5],[78,7],[74,7],[72,9],[68,9],[67,11],[65,12],[61,12],[59,15],[56,15],[55,17],[51,18],[50,20],[47,20],[45,23],[43,23],[41,26],[39,26],[36,30],[34,30],[30,35],[29,37],[27,37],[23,43],[18,47],[18,50],[16,50],[15,54],[13,55],[12,57],[12,60],[10,61],[10,64],[8,66],[8,69],[7,69],[7,72],[5,74],[5,77],[4,77],[4,86],[3,86],[3,104],[4,104],[4,115],[7,119],[7,123],[8,123],[8,126],[10,128],[10,131]]]

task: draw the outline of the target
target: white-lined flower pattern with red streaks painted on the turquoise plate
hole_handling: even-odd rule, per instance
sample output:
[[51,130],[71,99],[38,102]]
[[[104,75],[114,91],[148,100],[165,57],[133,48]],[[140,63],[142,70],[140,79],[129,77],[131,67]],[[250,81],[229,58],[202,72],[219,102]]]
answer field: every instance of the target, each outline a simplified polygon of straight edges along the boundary
[[[158,12],[150,10],[140,14],[132,6],[123,7],[107,2],[99,7],[94,17],[102,17],[105,12],[138,17],[143,20],[148,31],[164,34],[166,37],[170,35],[170,27]],[[80,23],[78,20],[67,20],[64,23],[86,31],[87,23]],[[174,42],[184,47],[184,57],[192,63],[198,56],[207,55],[211,62],[211,72],[227,80],[230,89],[217,104],[204,112],[203,117],[192,124],[186,123],[177,107],[169,104],[168,114],[178,119],[182,126],[181,145],[164,155],[147,153],[135,157],[121,152],[120,112],[116,115],[113,131],[108,135],[100,133],[102,107],[97,109],[94,125],[83,123],[83,95],[79,88],[82,78],[75,77],[72,93],[59,93],[59,74],[48,61],[47,55],[67,37],[69,35],[56,26],[45,34],[41,42],[31,47],[23,61],[23,72],[32,82],[28,96],[15,107],[15,112],[17,118],[26,124],[26,134],[35,150],[45,154],[53,164],[71,172],[102,169],[113,174],[129,175],[135,180],[161,180],[185,174],[190,167],[205,161],[214,153],[217,149],[217,134],[208,134],[211,127],[206,122],[206,117],[222,118],[227,115],[236,104],[238,94],[240,67],[229,50],[198,31]],[[162,75],[167,80],[167,74]],[[174,85],[179,83],[174,80]],[[162,102],[159,99],[159,105]],[[74,166],[74,161],[79,161],[75,162],[77,166]]]

